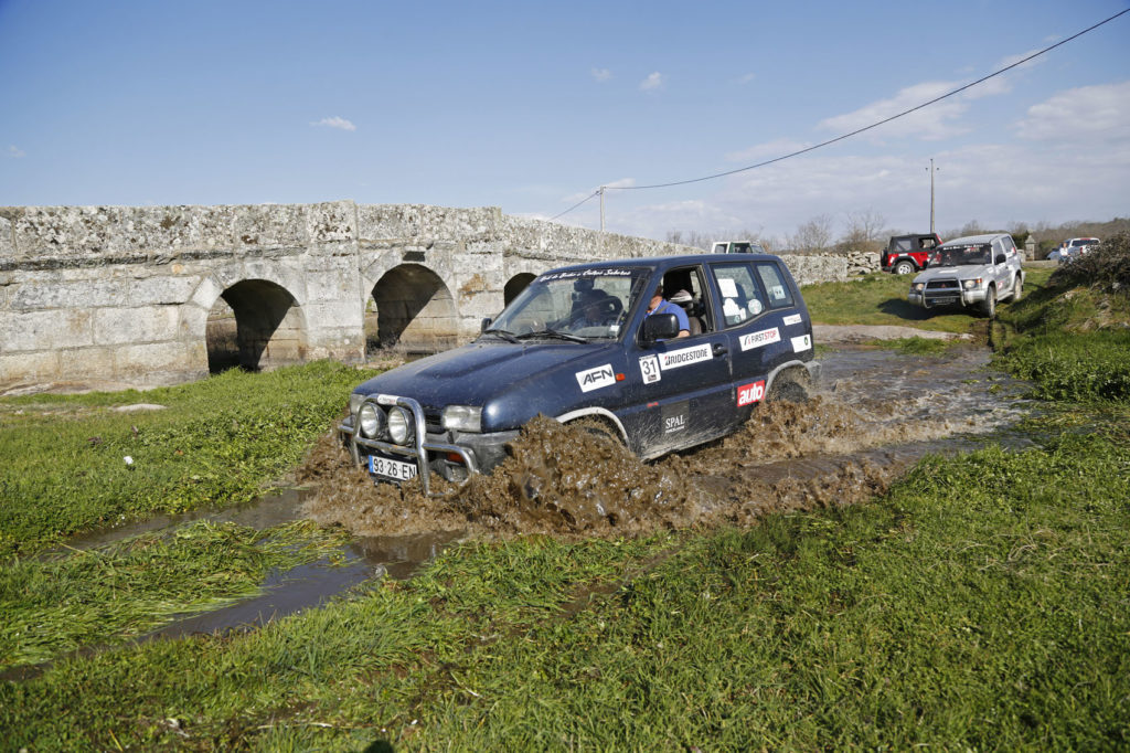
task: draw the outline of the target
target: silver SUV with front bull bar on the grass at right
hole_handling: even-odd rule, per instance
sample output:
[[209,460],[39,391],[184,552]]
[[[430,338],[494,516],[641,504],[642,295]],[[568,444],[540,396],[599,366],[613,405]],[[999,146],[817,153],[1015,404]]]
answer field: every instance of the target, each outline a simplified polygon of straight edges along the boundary
[[1019,301],[1023,291],[1024,269],[1012,236],[989,233],[942,244],[937,261],[914,277],[907,300],[924,309],[976,306],[992,318],[998,301]]

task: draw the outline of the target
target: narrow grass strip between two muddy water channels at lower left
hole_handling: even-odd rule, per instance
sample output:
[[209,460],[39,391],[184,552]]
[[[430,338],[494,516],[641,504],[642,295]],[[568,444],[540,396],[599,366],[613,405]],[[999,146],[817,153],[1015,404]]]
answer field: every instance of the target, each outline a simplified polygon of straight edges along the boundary
[[0,569],[0,669],[110,646],[261,592],[272,570],[337,555],[348,540],[307,520],[255,530],[195,522]]

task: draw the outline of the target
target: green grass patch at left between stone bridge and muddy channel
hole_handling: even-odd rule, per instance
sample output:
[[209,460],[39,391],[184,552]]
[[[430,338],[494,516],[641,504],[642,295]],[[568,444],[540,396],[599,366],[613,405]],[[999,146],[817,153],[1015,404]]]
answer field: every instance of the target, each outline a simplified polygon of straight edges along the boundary
[[[0,559],[156,512],[254,499],[342,414],[363,378],[323,361],[148,392],[0,400]],[[112,409],[137,403],[166,409]]]

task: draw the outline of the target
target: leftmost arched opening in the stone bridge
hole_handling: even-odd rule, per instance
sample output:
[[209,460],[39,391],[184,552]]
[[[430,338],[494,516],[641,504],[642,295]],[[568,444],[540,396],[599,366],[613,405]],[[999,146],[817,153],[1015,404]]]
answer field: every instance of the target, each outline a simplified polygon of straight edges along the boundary
[[306,332],[301,306],[286,288],[246,279],[224,291],[208,315],[208,371],[276,369],[302,363]]

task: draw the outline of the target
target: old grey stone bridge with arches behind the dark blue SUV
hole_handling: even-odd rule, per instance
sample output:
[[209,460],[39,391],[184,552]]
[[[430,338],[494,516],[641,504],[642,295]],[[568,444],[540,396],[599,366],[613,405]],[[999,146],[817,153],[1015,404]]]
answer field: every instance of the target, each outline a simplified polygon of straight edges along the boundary
[[[495,207],[0,208],[0,392],[435,352],[551,267],[687,252]],[[802,283],[847,276],[841,257],[786,261]]]

